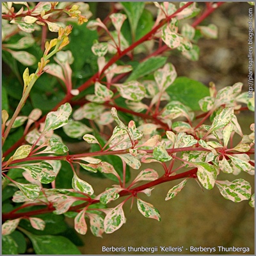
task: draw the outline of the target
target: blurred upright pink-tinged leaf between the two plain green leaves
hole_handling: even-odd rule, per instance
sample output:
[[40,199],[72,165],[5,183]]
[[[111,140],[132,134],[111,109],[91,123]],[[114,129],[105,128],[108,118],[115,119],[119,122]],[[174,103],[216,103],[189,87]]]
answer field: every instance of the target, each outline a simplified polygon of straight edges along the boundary
[[159,68],[154,72],[154,78],[159,88],[159,92],[164,92],[166,88],[173,83],[176,77],[177,72],[171,63],[167,63],[163,68]]

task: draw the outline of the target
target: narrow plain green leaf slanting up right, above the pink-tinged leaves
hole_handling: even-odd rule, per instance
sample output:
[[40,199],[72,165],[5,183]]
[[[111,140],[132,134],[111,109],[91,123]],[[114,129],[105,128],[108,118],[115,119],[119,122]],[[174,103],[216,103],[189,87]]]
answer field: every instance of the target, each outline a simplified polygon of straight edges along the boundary
[[138,67],[136,67],[131,76],[126,80],[126,82],[137,80],[140,77],[147,76],[148,74],[155,71],[157,68],[163,67],[166,62],[166,57],[152,57],[146,61],[141,62]]

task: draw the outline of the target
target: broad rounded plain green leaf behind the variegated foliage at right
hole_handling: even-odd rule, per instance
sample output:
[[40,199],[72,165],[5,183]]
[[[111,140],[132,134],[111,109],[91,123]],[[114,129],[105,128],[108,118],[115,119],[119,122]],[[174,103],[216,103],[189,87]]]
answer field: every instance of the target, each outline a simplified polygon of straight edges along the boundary
[[209,96],[209,89],[204,84],[188,77],[177,77],[166,92],[172,100],[179,100],[193,111],[200,110],[198,101]]

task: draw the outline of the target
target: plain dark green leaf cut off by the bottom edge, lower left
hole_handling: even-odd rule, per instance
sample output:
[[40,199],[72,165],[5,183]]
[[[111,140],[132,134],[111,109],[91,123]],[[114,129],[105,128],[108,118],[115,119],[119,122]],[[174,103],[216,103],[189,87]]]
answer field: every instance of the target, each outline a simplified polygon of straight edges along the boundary
[[36,254],[81,255],[75,244],[63,236],[37,236],[25,233],[33,244]]

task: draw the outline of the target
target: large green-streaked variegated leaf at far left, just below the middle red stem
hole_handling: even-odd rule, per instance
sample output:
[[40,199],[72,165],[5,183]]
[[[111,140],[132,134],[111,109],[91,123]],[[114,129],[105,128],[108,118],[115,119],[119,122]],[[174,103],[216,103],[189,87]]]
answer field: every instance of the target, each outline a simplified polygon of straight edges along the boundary
[[40,180],[43,184],[49,184],[56,178],[51,164],[44,161],[41,163],[21,164],[19,168],[22,168],[28,172],[33,179]]

